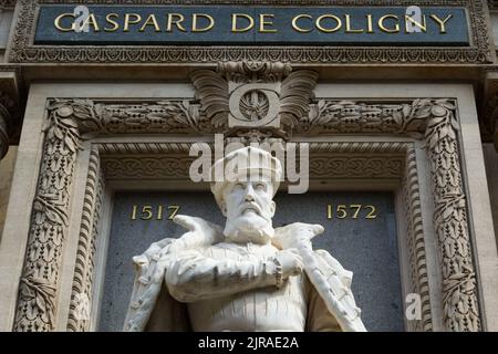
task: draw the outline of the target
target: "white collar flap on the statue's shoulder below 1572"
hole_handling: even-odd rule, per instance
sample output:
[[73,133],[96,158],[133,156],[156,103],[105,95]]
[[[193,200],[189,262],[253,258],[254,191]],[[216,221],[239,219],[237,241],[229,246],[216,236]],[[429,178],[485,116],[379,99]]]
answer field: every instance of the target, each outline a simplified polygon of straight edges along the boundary
[[324,230],[323,226],[318,223],[290,223],[274,229],[272,243],[282,250],[303,247],[311,249],[311,239]]

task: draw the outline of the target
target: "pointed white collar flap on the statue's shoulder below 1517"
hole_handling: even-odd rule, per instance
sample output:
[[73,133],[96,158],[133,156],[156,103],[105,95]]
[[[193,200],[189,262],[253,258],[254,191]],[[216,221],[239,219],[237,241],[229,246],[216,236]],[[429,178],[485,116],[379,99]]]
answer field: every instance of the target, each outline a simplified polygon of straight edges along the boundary
[[196,248],[206,247],[222,241],[222,229],[220,226],[208,222],[201,218],[177,215],[173,222],[188,230],[175,247]]

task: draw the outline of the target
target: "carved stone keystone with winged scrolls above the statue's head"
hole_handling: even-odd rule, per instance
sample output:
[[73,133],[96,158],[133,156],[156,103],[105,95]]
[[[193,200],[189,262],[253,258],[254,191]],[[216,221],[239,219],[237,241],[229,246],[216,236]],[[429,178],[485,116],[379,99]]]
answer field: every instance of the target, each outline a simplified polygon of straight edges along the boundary
[[201,108],[215,127],[272,128],[286,135],[308,114],[318,74],[288,63],[228,62],[193,73]]

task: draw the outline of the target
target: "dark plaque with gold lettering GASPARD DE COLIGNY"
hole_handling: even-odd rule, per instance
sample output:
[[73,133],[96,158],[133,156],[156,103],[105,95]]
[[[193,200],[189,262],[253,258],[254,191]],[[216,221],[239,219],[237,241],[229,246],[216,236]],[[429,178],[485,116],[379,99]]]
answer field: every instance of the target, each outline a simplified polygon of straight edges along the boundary
[[455,7],[423,7],[415,17],[406,7],[87,9],[82,17],[74,6],[42,6],[34,44],[469,45],[466,10]]

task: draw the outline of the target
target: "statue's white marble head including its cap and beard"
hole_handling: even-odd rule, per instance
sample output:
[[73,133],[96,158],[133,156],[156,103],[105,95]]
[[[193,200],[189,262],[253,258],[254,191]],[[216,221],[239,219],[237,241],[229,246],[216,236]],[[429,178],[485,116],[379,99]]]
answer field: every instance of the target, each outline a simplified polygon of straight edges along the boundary
[[271,240],[273,197],[281,175],[280,162],[256,147],[237,149],[215,163],[211,191],[227,218],[224,231],[227,240],[259,243]]

